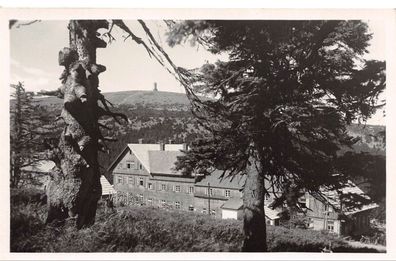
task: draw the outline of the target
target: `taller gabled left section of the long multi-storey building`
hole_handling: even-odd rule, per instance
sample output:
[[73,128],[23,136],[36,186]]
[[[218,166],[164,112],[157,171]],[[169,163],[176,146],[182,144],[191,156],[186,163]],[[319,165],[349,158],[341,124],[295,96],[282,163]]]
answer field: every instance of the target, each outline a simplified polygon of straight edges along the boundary
[[113,185],[127,200],[194,210],[195,177],[174,170],[183,144],[128,144],[110,165]]

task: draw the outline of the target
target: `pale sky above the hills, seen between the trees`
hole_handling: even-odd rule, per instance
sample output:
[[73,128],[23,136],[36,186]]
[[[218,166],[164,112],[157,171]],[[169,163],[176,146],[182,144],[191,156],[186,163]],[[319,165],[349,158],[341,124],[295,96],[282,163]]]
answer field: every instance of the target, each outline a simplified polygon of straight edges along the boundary
[[[137,21],[124,21],[139,37],[147,39]],[[381,20],[367,21],[373,34],[366,59],[385,60],[385,28]],[[166,44],[166,26],[162,21],[146,21],[153,35],[177,66],[197,68],[205,62],[226,59],[215,56],[203,47],[191,46],[189,42],[176,47]],[[58,52],[68,46],[67,20],[43,20],[28,26],[13,27],[10,30],[10,80],[21,81],[29,91],[56,90],[63,67],[58,65]],[[184,92],[173,75],[155,59],[151,59],[144,48],[125,33],[114,28],[115,41],[106,48],[97,49],[97,63],[107,67],[99,76],[102,92],[152,90],[154,82],[160,91]],[[385,95],[383,95],[384,97]],[[385,125],[382,110],[379,110],[370,124]]]

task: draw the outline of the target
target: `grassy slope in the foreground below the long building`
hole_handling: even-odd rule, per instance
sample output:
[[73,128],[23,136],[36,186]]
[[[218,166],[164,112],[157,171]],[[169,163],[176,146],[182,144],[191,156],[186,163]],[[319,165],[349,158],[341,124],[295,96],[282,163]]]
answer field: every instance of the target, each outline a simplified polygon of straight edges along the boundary
[[[243,241],[241,221],[149,207],[99,208],[96,223],[79,231],[73,220],[46,226],[40,196],[11,192],[12,252],[221,252],[240,251]],[[274,252],[320,252],[330,242],[335,252],[376,252],[318,231],[268,226],[267,234]]]

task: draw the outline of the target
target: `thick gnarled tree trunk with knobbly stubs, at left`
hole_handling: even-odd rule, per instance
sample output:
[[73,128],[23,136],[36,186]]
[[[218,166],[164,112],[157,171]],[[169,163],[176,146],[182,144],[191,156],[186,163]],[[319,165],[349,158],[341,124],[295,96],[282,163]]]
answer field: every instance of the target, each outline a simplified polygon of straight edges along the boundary
[[97,38],[99,28],[107,28],[105,20],[71,20],[70,48],[59,53],[59,64],[65,66],[61,75],[64,95],[62,118],[66,127],[54,157],[47,189],[47,222],[77,216],[77,228],[95,221],[97,202],[102,194],[98,164],[101,134],[98,119],[103,109],[98,100],[98,74],[105,67],[96,64],[96,48],[106,47]]

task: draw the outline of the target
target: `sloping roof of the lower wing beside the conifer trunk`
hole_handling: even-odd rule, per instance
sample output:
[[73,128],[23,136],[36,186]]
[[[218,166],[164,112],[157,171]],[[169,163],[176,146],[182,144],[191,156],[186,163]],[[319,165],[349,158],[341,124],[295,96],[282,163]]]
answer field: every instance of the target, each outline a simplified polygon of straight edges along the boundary
[[246,175],[236,175],[233,177],[224,175],[224,177],[221,177],[222,174],[223,171],[215,170],[195,185],[207,187],[209,183],[211,187],[216,188],[242,189],[242,186],[245,184]]

